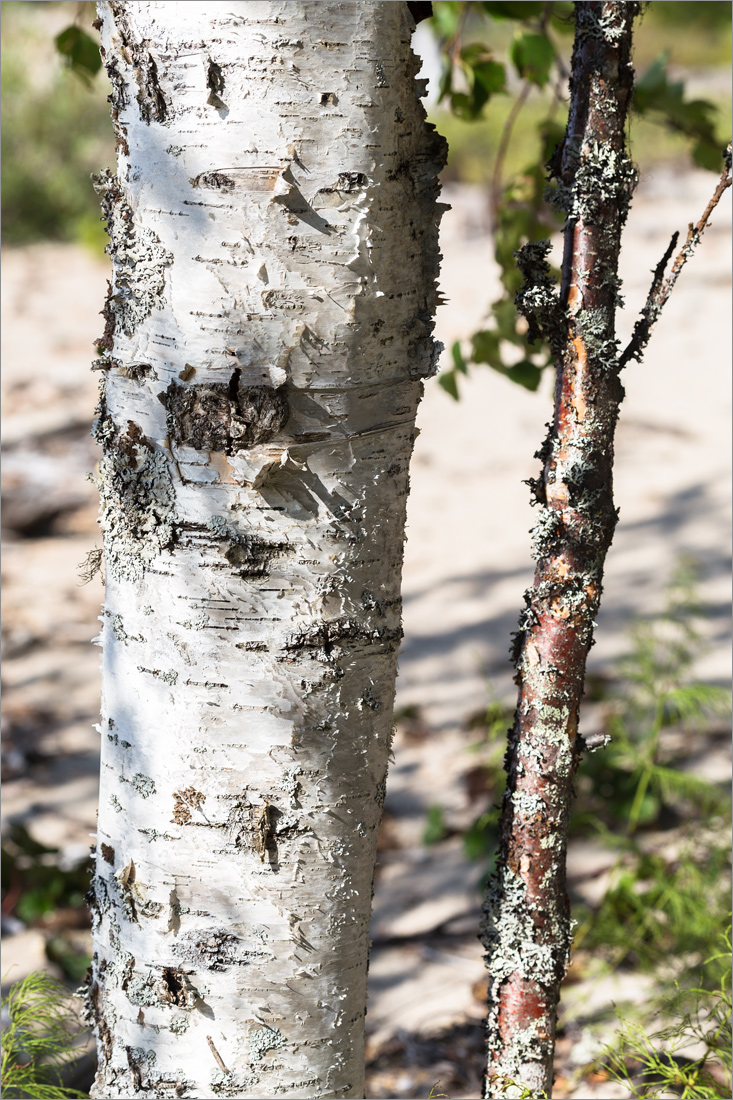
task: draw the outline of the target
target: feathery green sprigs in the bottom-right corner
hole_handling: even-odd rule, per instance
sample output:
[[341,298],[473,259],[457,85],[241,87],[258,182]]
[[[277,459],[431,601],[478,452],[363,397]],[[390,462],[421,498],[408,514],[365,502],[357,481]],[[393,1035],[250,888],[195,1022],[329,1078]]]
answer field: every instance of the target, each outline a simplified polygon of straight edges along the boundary
[[[703,964],[699,987],[676,987],[660,1010],[668,1021],[664,1027],[647,1035],[638,1024],[621,1020],[614,1044],[605,1048],[604,1068],[622,1085],[633,1078],[639,1100],[668,1096],[671,1090],[690,1100],[731,1094],[730,932],[722,937],[721,948]],[[718,972],[720,963],[723,972],[711,983],[705,971],[712,965]]]

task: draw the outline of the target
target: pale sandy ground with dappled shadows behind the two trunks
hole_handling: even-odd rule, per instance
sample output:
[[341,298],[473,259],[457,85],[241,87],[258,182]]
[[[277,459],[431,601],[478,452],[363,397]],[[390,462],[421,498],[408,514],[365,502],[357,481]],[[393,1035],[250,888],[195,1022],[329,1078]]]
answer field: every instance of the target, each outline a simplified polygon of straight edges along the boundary
[[[622,255],[622,338],[671,232],[697,220],[711,190],[703,173],[659,172],[643,182]],[[449,345],[480,327],[497,289],[482,194],[457,187],[447,200],[453,209],[444,222],[441,285],[449,305],[438,337]],[[698,562],[709,612],[699,671],[720,682],[729,676],[730,229],[729,195],[644,364],[626,371],[616,451],[621,522],[591,653],[597,672],[625,650],[635,617],[661,609],[686,554]],[[108,272],[76,248],[39,245],[3,253],[3,814],[73,862],[96,820],[99,660],[89,639],[102,590],[98,580],[79,586],[78,565],[99,544],[85,473],[97,460],[88,437],[96,402],[89,360]],[[370,971],[371,1097],[424,1097],[438,1079],[455,1100],[480,1094],[478,870],[458,837],[425,847],[422,834],[434,804],[451,827],[472,818],[463,778],[477,735],[467,719],[490,697],[513,697],[506,651],[532,565],[522,481],[536,473],[550,383],[529,394],[479,369],[458,404],[429,383],[419,413],[397,685],[397,707],[418,706],[419,718],[400,725],[385,806]],[[584,721],[593,722],[592,708]],[[727,749],[711,749],[697,767],[720,778],[730,769]],[[580,894],[598,891],[603,860],[603,849],[576,845],[570,875]],[[3,938],[3,974],[47,965],[43,928],[11,922],[3,931],[14,932]],[[582,1077],[594,1042],[583,1021],[591,1003],[638,996],[626,975],[569,987],[557,1097],[628,1094]]]

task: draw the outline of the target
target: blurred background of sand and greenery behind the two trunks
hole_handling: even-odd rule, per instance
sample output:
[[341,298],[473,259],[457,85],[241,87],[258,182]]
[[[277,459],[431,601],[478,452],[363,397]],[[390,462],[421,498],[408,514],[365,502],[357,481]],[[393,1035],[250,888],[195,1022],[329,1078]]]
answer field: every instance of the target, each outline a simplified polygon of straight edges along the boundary
[[[415,36],[429,117],[450,143],[437,320],[447,351],[426,385],[413,462],[395,761],[374,899],[370,1097],[427,1097],[436,1081],[433,1096],[480,1094],[477,927],[514,702],[510,634],[532,579],[522,482],[536,474],[553,391],[541,350],[527,348],[501,304],[513,295],[512,242],[556,233],[537,165],[565,120],[571,7],[437,3]],[[109,87],[85,42],[95,15],[89,3],[2,3],[3,991],[40,969],[73,988],[90,955],[83,897],[99,706],[90,639],[103,591],[99,575],[84,583],[101,546],[87,480],[98,461],[89,367],[110,271],[89,175],[114,165]],[[656,2],[645,13],[622,341],[671,233],[697,221],[714,189],[731,127],[730,63],[730,3]],[[730,910],[730,238],[729,191],[644,362],[625,372],[621,520],[581,716],[586,735],[614,740],[588,758],[577,784],[578,928],[558,1098],[645,1094],[645,1049],[619,1040],[614,1003],[648,1034],[676,980],[708,998],[724,981],[724,963],[703,964]],[[688,997],[685,1011],[720,1003]],[[664,1020],[680,1019],[678,1009],[668,1004]],[[672,1091],[649,1094],[679,1094],[663,1070],[674,1077],[678,1063],[694,1064],[703,1048],[688,1038],[657,1071]],[[612,1041],[625,1082],[601,1054]],[[713,1067],[725,1062],[720,1050],[711,1057]],[[90,1068],[77,1066],[81,1087]],[[726,1094],[723,1084],[711,1088],[689,1094]]]

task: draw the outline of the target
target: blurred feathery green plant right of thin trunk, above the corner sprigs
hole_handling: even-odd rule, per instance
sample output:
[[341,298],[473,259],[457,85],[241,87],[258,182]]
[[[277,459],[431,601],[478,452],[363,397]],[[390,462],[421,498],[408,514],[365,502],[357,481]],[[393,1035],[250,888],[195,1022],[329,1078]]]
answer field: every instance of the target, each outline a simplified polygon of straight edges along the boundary
[[[679,767],[710,718],[730,713],[729,691],[691,678],[697,610],[690,568],[681,566],[666,613],[634,630],[606,718],[610,746],[579,770],[572,831],[593,828],[619,856],[600,904],[578,910],[575,947],[595,948],[614,966],[699,965],[725,926],[730,793]],[[653,828],[661,838],[648,839]]]

